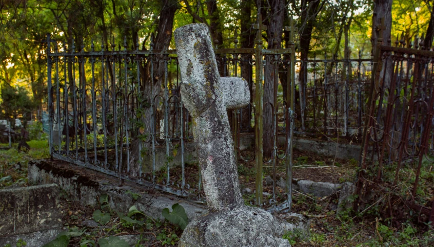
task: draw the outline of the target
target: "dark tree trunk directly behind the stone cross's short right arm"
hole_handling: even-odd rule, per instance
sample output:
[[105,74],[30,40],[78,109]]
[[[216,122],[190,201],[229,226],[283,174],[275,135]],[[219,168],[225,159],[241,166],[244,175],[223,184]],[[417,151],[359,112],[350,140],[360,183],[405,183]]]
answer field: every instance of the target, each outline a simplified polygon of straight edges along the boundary
[[[254,2],[252,0],[241,0],[241,48],[253,48],[254,46],[254,34],[251,30],[252,20],[251,12]],[[252,58],[251,54],[241,55],[241,77],[246,79],[249,84],[250,95],[253,96],[252,83],[253,83],[253,67],[250,65],[249,61]],[[253,98],[250,97],[250,103],[253,103]],[[252,128],[250,126],[250,121],[252,118],[252,109],[249,106],[242,108],[241,110],[241,130],[250,131]]]

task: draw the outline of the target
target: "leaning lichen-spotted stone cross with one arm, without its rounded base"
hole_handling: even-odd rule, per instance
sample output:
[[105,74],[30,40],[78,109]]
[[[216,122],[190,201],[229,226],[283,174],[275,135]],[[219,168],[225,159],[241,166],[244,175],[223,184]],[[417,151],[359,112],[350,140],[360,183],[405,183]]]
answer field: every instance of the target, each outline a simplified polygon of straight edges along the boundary
[[211,212],[244,205],[226,109],[250,102],[247,81],[220,77],[205,24],[174,32],[181,71],[181,97],[192,116],[204,191]]

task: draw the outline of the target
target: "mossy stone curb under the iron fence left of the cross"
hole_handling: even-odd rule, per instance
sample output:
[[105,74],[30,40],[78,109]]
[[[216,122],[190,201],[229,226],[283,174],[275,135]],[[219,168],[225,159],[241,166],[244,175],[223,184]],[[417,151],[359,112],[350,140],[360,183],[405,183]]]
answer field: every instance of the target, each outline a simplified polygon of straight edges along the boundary
[[[128,213],[128,209],[135,205],[147,215],[161,220],[164,220],[161,211],[171,208],[175,203],[184,207],[189,219],[208,212],[206,207],[191,200],[152,191],[146,186],[131,182],[119,185],[115,177],[62,161],[30,161],[27,176],[30,184],[57,184],[71,199],[83,206],[97,206],[98,196],[107,194],[110,208],[115,211]],[[127,191],[141,197],[133,200]]]

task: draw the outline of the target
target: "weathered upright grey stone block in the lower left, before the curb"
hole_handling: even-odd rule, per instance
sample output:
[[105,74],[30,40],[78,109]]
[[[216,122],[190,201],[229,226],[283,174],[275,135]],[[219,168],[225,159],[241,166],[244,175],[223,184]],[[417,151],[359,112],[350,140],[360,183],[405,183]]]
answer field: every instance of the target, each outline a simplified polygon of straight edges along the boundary
[[58,186],[0,190],[0,237],[62,227]]

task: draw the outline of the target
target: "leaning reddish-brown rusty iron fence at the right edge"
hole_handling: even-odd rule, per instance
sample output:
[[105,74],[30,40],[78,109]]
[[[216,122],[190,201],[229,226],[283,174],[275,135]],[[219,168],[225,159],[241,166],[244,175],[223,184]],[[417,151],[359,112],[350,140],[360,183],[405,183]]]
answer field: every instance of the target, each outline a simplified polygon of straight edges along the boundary
[[[357,204],[363,204],[360,197],[369,193],[369,179],[384,181],[384,173],[391,167],[394,178],[384,182],[390,183],[392,188],[403,187],[407,180],[403,176],[408,176],[403,173],[406,167],[415,177],[410,183],[412,188],[408,186],[408,193],[403,196],[405,205],[434,222],[434,201],[429,208],[429,201],[424,202],[422,198],[426,193],[428,197],[432,194],[429,195],[429,188],[420,185],[423,166],[432,168],[434,164],[434,52],[426,50],[422,41],[416,37],[406,44],[402,36],[397,37],[395,46],[382,45],[381,38],[376,45],[357,180]],[[374,178],[367,178],[369,169],[374,171]],[[432,182],[427,186],[432,186]]]

